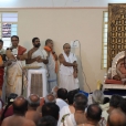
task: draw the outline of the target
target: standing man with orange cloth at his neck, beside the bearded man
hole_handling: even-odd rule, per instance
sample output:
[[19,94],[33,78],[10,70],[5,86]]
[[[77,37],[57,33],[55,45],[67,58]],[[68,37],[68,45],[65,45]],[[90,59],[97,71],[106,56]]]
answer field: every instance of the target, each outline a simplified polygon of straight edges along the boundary
[[53,50],[53,41],[48,39],[45,41],[45,46],[44,50],[48,53],[48,72],[49,72],[49,77],[48,77],[48,92],[51,93],[52,88],[54,86],[57,86],[57,55],[55,54]]

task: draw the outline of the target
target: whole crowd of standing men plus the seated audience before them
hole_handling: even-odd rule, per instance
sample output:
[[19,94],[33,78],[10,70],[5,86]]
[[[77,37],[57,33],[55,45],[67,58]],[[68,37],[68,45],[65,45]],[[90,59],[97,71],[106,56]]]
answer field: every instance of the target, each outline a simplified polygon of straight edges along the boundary
[[[28,52],[19,45],[17,35],[11,36],[11,44],[3,50],[3,41],[0,40],[0,95],[2,92],[8,97],[6,102],[0,99],[1,126],[126,126],[124,97],[113,95],[108,98],[99,90],[88,96],[80,92],[77,60],[71,53],[69,43],[63,45],[63,52],[59,56],[51,39],[42,48],[40,39],[33,38],[33,48]],[[31,93],[28,98],[21,95],[22,78],[25,80],[22,77],[24,61],[30,67],[46,70],[45,97],[38,93]],[[35,88],[42,90],[39,86]]]

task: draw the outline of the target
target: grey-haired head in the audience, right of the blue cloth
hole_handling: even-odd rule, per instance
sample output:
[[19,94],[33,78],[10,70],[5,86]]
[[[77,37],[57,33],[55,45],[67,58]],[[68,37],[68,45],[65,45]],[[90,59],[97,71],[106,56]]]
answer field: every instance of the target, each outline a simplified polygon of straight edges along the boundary
[[93,103],[103,104],[103,102],[104,102],[104,94],[103,94],[102,91],[95,90],[93,92],[92,98],[93,98]]

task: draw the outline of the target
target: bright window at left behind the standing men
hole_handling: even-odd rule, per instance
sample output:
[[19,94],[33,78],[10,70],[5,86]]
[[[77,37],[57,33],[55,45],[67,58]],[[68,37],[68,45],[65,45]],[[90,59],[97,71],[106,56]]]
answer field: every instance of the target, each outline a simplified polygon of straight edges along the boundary
[[0,39],[3,40],[3,49],[11,45],[11,35],[18,34],[18,13],[0,12]]

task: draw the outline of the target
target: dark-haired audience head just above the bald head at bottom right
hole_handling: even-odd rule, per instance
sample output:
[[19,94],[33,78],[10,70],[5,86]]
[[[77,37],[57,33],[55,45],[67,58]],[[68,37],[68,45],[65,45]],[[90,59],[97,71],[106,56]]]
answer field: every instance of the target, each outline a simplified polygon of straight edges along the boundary
[[109,99],[109,109],[107,111],[108,114],[114,109],[114,108],[118,108],[120,101],[123,99],[122,96],[119,95],[112,95],[111,99]]

